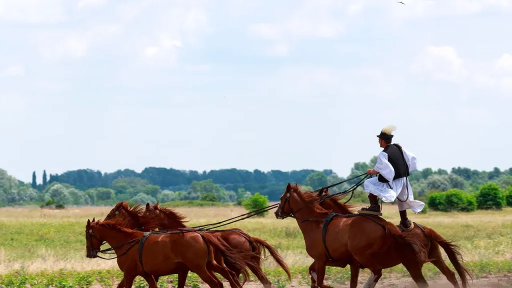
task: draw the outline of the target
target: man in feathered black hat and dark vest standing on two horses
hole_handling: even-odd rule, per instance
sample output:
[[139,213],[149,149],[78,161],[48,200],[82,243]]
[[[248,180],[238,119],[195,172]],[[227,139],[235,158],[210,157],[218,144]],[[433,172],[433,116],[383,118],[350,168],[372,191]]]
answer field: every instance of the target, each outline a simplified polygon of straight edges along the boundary
[[379,145],[383,150],[377,156],[374,169],[369,169],[367,174],[377,175],[365,181],[365,191],[370,199],[370,206],[361,208],[360,212],[380,212],[378,199],[384,202],[393,202],[398,198],[398,211],[400,213],[400,226],[404,230],[412,228],[411,221],[407,218],[407,209],[414,213],[420,212],[425,204],[414,200],[409,172],[416,170],[416,156],[403,149],[398,144],[392,144],[394,126],[387,126],[377,135]]

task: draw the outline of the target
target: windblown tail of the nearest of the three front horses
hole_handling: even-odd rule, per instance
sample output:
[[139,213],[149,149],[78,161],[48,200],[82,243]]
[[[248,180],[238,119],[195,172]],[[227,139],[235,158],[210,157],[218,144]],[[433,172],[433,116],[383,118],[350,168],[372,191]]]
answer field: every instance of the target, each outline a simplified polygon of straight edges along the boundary
[[241,271],[242,274],[242,286],[250,280],[250,274],[247,271],[248,263],[252,263],[254,259],[252,257],[258,256],[253,252],[236,251],[229,247],[220,237],[216,237],[210,233],[203,233],[205,241],[211,245],[216,251],[221,253],[224,263],[237,271]]

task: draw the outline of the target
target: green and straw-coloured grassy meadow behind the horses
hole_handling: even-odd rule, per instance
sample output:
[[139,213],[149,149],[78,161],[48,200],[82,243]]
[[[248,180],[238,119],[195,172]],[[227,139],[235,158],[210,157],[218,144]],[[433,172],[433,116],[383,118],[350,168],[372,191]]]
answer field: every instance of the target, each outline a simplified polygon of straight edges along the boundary
[[[110,207],[70,207],[64,210],[39,208],[0,209],[0,287],[89,287],[93,284],[117,284],[121,274],[115,260],[86,258],[85,225],[87,219],[103,219]],[[211,223],[246,213],[241,207],[177,207],[190,220],[189,225]],[[385,205],[383,214],[399,222],[396,205]],[[512,274],[512,209],[477,211],[473,213],[428,212],[410,218],[435,229],[444,238],[454,237],[462,249],[467,265],[476,277],[488,274]],[[312,259],[306,254],[303,236],[294,219],[278,220],[273,213],[262,218],[250,218],[228,227],[245,230],[279,249],[292,270],[292,277],[309,283],[307,267]],[[444,252],[443,252],[444,253]],[[449,262],[449,261],[448,261]],[[449,264],[451,265],[451,264]],[[281,269],[269,258],[264,268],[277,286],[289,284]],[[425,264],[425,277],[432,279],[439,272]],[[367,273],[361,271],[361,276]],[[384,271],[386,277],[409,277],[400,265]],[[328,270],[328,281],[344,282],[350,270]],[[187,285],[197,283],[189,273]],[[139,279],[139,277],[137,278]],[[162,278],[162,286],[170,285],[174,277]],[[167,283],[167,284],[165,284]],[[147,286],[139,279],[136,286]]]

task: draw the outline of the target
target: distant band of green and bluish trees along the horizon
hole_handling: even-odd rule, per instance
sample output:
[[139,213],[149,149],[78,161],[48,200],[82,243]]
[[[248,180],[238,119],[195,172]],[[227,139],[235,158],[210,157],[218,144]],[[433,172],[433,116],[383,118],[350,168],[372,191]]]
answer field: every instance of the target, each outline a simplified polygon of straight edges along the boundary
[[[172,168],[148,167],[138,173],[124,169],[102,173],[91,169],[67,171],[62,174],[42,173],[37,181],[36,173],[32,182],[24,183],[0,169],[0,205],[14,204],[112,204],[120,200],[137,202],[205,200],[239,202],[248,195],[259,192],[270,201],[279,200],[288,182],[318,189],[329,184],[351,178],[375,166],[376,157],[368,162],[354,163],[347,177],[340,177],[332,170],[312,169],[297,171],[222,169],[209,172],[176,170]],[[478,171],[469,168],[453,168],[451,171],[425,168],[414,171],[409,177],[416,198],[426,200],[426,195],[457,189],[468,193],[477,192],[488,182],[496,183],[501,189],[512,186],[512,168],[492,171]],[[331,189],[342,191],[357,182],[349,181]],[[206,196],[205,196],[206,194]],[[366,201],[366,195],[359,192],[356,201]],[[215,195],[215,197],[211,197]],[[204,199],[202,199],[204,198]]]

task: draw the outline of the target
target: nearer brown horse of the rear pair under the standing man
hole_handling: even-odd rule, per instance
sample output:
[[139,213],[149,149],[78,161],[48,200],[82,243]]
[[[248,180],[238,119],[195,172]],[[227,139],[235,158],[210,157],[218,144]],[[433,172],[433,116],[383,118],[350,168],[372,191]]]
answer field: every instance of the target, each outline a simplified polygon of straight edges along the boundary
[[[393,223],[369,215],[331,218],[332,211],[322,208],[314,201],[316,199],[316,195],[302,193],[300,187],[288,183],[275,217],[285,219],[293,216],[296,219],[304,236],[306,252],[314,259],[318,287],[328,287],[324,285],[326,265],[341,268],[350,265],[351,288],[357,286],[360,266],[367,268],[371,275],[364,287],[373,288],[383,269],[400,263],[418,286],[428,286],[421,274],[421,266],[428,258],[421,241],[413,234],[401,233]],[[330,222],[326,220],[328,217]],[[328,224],[325,234],[324,223]],[[415,257],[411,259],[404,255]]]

